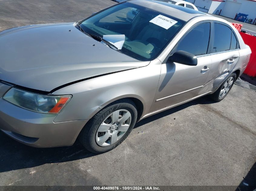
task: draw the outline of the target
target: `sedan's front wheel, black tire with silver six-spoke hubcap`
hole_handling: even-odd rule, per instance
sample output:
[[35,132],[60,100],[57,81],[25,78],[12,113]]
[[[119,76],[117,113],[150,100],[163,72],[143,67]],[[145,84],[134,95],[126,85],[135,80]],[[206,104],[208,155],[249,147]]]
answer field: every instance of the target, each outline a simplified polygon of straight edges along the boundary
[[80,132],[79,140],[88,151],[93,153],[110,151],[128,137],[135,126],[137,115],[136,105],[130,99],[115,101],[86,123]]

